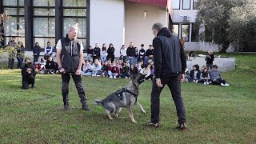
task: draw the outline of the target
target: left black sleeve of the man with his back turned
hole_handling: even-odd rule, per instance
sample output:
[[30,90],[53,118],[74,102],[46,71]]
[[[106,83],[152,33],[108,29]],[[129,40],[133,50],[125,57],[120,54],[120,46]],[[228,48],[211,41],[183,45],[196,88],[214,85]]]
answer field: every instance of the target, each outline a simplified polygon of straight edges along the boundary
[[154,74],[155,78],[161,78],[162,72],[162,42],[159,38],[154,38],[153,40],[154,46]]

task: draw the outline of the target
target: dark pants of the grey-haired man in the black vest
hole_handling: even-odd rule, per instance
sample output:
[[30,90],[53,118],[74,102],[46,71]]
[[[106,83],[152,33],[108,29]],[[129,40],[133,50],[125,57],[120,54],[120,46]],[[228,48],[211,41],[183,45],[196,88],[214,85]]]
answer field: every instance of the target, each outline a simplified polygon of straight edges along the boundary
[[[86,94],[82,86],[82,76],[71,74],[74,84],[78,90],[78,95],[82,106],[86,106]],[[70,74],[62,74],[62,97],[64,105],[69,105],[69,83],[70,83]]]

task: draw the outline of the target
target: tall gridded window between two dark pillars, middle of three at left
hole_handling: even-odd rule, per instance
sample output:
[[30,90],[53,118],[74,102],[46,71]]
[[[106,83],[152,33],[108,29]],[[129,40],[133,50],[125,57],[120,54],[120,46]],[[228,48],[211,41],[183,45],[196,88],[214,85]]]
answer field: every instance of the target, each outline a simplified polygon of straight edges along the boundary
[[34,0],[33,39],[42,48],[55,44],[55,1]]

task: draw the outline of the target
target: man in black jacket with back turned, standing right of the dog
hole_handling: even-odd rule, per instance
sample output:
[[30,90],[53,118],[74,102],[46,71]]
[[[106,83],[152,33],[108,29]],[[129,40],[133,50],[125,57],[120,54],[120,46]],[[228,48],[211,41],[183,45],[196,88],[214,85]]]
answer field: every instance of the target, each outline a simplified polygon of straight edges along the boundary
[[151,121],[146,126],[158,127],[160,113],[160,93],[165,85],[171,91],[178,115],[178,129],[186,130],[186,111],[181,94],[181,81],[184,81],[186,54],[176,36],[161,23],[152,27],[155,36],[154,74],[151,92]]

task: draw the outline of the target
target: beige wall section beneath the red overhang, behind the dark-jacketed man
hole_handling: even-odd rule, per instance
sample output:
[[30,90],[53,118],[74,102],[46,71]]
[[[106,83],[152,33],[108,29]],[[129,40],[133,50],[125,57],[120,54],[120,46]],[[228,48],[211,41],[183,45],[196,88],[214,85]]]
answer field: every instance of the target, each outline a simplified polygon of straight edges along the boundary
[[[144,11],[147,12],[146,18]],[[166,10],[161,10],[158,6],[145,5],[138,2],[126,2],[126,34],[125,45],[129,46],[130,42],[134,42],[134,46],[140,49],[141,44],[147,49],[154,35],[152,34],[152,26],[155,22],[161,22],[167,26]]]

